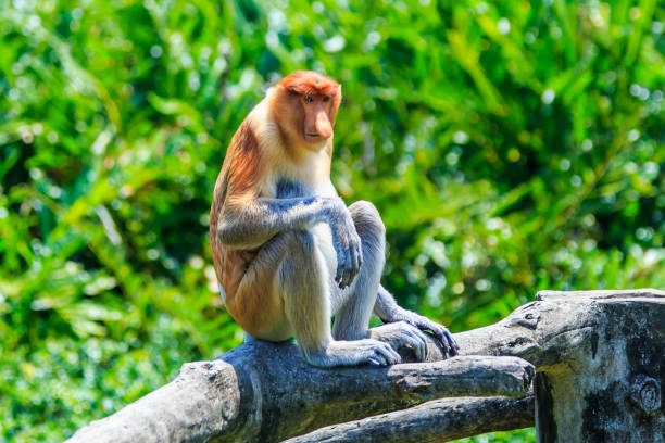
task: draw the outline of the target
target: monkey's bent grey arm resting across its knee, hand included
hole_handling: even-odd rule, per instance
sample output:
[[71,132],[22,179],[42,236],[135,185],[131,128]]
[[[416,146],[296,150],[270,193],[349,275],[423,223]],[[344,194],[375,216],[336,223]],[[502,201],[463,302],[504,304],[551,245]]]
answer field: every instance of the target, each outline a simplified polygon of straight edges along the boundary
[[242,207],[225,205],[217,223],[217,238],[233,249],[255,249],[287,229],[308,229],[327,223],[337,252],[337,281],[351,284],[362,264],[361,240],[349,210],[339,198],[306,197],[255,199]]

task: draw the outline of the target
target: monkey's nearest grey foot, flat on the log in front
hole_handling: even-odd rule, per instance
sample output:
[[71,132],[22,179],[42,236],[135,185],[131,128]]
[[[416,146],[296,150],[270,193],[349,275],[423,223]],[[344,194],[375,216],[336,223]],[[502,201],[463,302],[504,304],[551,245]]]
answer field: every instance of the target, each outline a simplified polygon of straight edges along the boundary
[[402,357],[389,344],[377,340],[331,341],[321,352],[303,350],[305,360],[319,368],[335,366],[356,366],[371,364],[378,366],[394,365]]

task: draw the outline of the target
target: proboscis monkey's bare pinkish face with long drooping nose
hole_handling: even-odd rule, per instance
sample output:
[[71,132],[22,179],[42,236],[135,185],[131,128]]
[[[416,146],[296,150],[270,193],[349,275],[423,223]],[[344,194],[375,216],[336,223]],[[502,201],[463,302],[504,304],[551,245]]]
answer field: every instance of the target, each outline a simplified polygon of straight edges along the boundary
[[308,149],[319,150],[332,137],[332,106],[335,100],[330,96],[298,94],[302,110],[301,137]]

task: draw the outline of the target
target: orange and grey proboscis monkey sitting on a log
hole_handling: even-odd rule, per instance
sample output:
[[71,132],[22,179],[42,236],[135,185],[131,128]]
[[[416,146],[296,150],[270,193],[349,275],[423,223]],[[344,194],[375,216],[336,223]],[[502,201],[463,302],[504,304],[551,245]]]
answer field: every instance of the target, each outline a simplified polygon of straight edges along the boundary
[[[214,187],[210,242],[227,311],[248,339],[294,338],[316,367],[425,359],[429,330],[380,284],[386,228],[366,201],[347,206],[330,180],[341,85],[310,71],[271,87],[231,138]],[[369,329],[372,314],[384,325]],[[335,317],[334,326],[331,318]]]

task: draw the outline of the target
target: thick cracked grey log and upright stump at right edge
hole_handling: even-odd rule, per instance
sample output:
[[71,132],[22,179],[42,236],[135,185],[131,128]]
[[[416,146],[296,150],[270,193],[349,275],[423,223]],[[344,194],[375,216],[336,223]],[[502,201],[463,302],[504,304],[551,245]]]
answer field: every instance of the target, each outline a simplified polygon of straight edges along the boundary
[[665,442],[663,291],[541,291],[455,340],[536,366],[539,442]]

